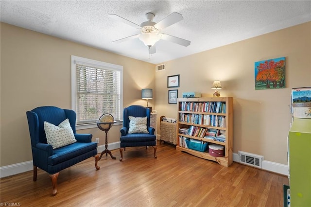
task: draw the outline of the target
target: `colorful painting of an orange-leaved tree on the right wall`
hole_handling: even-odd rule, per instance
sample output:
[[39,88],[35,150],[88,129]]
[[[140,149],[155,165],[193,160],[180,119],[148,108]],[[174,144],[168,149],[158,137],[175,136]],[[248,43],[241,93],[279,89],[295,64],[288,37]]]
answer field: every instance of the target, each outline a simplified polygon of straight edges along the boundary
[[285,88],[285,57],[255,62],[255,89]]

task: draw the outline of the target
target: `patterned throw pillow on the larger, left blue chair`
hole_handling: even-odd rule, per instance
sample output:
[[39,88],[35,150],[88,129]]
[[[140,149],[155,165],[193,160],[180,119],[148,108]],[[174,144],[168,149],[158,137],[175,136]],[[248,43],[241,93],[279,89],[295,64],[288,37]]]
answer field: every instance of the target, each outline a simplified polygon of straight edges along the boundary
[[69,119],[61,122],[58,126],[44,121],[44,131],[48,144],[51,144],[53,149],[66,146],[77,141],[74,138]]

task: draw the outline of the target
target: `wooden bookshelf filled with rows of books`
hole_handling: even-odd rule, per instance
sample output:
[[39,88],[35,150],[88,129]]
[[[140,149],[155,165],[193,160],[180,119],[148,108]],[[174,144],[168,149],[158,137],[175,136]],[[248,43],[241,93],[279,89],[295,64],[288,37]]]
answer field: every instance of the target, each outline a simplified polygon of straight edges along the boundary
[[[233,161],[233,98],[232,97],[210,97],[210,98],[178,98],[178,122],[176,127],[177,144],[176,150],[187,152],[191,155],[216,161],[223,166],[230,166]],[[188,129],[187,134],[179,133],[179,128]],[[196,131],[193,131],[196,130]],[[207,130],[221,130],[223,136],[221,141],[217,136],[214,138],[204,137]],[[193,134],[192,134],[193,133]],[[208,146],[205,152],[185,148],[179,137],[184,139],[196,139],[208,144],[219,144],[224,146],[224,156],[214,157],[208,154]]]

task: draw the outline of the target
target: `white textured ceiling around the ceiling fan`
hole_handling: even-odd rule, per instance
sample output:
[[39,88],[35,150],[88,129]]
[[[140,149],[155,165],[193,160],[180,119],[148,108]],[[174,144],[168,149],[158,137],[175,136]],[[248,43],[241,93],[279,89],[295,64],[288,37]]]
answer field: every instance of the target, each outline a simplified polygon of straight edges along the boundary
[[[0,0],[0,4],[2,22],[154,64],[311,21],[310,0]],[[173,12],[182,14],[183,20],[162,32],[190,40],[190,46],[160,40],[156,53],[149,56],[138,38],[111,43],[139,30],[108,17],[109,13],[139,25],[148,12],[155,14],[155,22]]]

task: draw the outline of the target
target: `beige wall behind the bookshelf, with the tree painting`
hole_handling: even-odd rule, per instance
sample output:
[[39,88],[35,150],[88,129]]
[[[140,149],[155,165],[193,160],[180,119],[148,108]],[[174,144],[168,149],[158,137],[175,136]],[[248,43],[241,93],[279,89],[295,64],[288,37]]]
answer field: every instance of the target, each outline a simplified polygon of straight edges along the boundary
[[[277,57],[286,58],[286,88],[255,90],[254,62]],[[167,88],[167,76],[175,74],[180,87]],[[178,89],[178,97],[190,91],[211,97],[214,80],[222,83],[221,96],[234,97],[233,152],[287,165],[291,88],[311,86],[311,22],[165,62],[155,73],[158,117],[177,118],[169,89]]]

